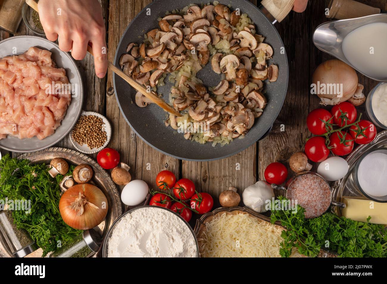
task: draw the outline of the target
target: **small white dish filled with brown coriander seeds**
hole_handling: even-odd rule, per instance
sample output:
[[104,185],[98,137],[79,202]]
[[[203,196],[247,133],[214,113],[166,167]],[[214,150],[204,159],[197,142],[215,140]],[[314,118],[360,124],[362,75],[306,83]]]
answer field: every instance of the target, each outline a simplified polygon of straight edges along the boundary
[[82,111],[70,132],[70,141],[78,151],[94,154],[108,145],[111,125],[108,119],[93,111]]

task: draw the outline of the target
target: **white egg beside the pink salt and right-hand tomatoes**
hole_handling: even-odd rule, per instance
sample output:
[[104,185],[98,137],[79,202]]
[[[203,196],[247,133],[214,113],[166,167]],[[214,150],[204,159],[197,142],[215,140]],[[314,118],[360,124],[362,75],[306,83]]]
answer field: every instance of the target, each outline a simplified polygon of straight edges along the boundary
[[325,180],[339,180],[348,173],[348,163],[342,157],[329,157],[319,164],[317,173]]

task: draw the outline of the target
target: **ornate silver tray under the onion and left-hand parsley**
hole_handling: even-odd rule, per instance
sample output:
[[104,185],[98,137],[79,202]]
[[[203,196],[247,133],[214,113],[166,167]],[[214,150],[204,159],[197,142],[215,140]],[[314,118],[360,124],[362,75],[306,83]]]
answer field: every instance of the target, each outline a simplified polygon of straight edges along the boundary
[[[82,154],[78,151],[60,147],[51,147],[43,151],[22,154],[17,158],[29,159],[31,163],[50,164],[50,161],[57,157],[61,157],[67,160],[69,164],[89,164],[92,167],[94,175],[91,183],[101,189],[108,199],[108,214],[106,215],[104,221],[102,221],[98,227],[94,228],[97,229],[103,238],[113,222],[115,222],[116,219],[122,215],[122,203],[120,193],[118,192],[113,180],[111,180],[110,175],[103,168],[101,168],[101,166],[99,166],[99,164],[94,161],[94,159],[91,159],[89,156],[86,156],[85,154]],[[39,249],[34,251],[30,256],[41,257],[42,250]],[[0,234],[0,257],[12,257],[12,254],[6,245],[2,234]]]

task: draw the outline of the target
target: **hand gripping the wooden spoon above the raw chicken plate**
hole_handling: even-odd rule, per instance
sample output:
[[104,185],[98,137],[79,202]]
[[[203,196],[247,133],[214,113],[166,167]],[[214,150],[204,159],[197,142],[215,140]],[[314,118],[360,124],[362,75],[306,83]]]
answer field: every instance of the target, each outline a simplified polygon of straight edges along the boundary
[[108,68],[106,29],[98,0],[39,0],[39,17],[47,39],[70,51],[76,60],[86,56],[92,43],[95,71],[99,78]]

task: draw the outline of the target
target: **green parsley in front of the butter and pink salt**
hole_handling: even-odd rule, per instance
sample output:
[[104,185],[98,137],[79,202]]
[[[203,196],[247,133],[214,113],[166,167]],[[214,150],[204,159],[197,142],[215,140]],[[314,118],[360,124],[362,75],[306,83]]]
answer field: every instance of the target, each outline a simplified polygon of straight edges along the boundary
[[[279,197],[281,204],[286,198]],[[332,213],[305,219],[305,209],[297,205],[295,210],[281,210],[272,206],[271,222],[281,222],[283,241],[279,253],[289,257],[293,248],[308,257],[316,257],[321,248],[337,253],[339,257],[387,257],[387,231],[384,225],[358,222]]]

